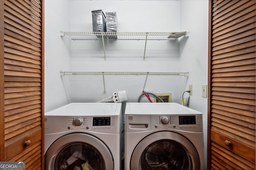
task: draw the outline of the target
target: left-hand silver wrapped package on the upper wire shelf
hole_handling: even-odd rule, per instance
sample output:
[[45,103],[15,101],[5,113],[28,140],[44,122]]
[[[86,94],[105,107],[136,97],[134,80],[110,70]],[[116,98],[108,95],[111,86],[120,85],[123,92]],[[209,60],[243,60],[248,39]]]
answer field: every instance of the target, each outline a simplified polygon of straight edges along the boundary
[[[106,17],[102,10],[92,11],[92,31],[93,32],[106,32]],[[101,35],[97,35],[101,38]]]

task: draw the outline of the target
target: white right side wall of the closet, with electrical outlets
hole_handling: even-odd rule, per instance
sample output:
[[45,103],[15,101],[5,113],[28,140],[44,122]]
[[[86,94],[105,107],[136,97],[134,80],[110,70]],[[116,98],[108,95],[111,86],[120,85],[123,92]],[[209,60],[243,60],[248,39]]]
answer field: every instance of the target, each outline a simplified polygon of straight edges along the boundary
[[181,69],[189,70],[186,89],[188,84],[193,87],[189,107],[203,113],[206,158],[207,98],[202,97],[202,85],[208,81],[208,0],[180,0],[180,6],[180,29],[190,31],[187,41],[180,44]]

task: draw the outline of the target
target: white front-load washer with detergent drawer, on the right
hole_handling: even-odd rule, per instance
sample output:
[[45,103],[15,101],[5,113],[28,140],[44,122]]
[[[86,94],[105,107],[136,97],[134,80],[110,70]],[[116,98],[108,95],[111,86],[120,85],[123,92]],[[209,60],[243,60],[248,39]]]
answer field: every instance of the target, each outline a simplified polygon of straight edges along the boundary
[[202,113],[177,103],[127,103],[126,170],[204,169]]

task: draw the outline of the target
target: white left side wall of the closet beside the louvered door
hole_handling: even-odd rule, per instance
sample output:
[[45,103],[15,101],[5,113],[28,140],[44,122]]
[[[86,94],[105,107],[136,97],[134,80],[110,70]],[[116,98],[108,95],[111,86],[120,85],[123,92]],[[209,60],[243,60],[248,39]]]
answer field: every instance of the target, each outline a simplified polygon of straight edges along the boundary
[[70,70],[70,42],[60,31],[70,31],[70,0],[45,0],[45,111],[71,102],[70,82],[60,70]]

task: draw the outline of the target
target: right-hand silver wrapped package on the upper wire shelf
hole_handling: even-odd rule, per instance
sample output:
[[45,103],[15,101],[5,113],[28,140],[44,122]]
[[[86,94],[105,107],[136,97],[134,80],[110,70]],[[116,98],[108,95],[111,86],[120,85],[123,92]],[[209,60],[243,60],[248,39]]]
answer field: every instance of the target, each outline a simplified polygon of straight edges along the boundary
[[[117,19],[116,12],[106,12],[106,29],[107,32],[116,32]],[[109,39],[117,39],[116,33],[109,35]]]

